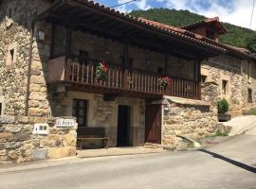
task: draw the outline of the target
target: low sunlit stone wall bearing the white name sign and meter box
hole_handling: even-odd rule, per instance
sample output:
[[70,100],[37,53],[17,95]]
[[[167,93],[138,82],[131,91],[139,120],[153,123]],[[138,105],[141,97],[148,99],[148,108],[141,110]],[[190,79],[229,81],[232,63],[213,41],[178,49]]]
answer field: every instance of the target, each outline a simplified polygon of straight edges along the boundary
[[[57,119],[0,117],[0,162],[23,163],[75,156],[77,124],[72,129],[57,128]],[[48,135],[33,134],[36,123],[47,123]]]

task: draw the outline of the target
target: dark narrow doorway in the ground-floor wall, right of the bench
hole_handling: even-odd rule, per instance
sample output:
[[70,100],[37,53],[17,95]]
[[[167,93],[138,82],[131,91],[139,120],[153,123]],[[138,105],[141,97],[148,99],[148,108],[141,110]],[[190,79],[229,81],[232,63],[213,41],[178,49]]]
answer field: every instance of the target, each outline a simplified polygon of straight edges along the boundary
[[130,146],[130,107],[119,106],[118,146]]

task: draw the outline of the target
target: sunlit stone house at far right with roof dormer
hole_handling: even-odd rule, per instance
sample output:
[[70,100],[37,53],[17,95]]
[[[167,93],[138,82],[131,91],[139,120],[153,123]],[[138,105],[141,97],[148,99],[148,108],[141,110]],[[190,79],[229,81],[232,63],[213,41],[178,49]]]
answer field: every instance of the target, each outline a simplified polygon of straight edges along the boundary
[[[227,29],[219,22],[218,17],[194,23],[190,26],[183,26],[182,28],[214,41],[211,43],[218,43],[219,36],[228,33]],[[219,45],[233,52],[202,61],[203,98],[206,101],[212,99],[213,94],[208,90],[211,91],[209,84],[213,82],[218,86],[216,88],[218,90],[215,90],[217,92],[215,95],[220,98],[226,98],[229,101],[229,112],[233,116],[241,115],[243,111],[248,111],[256,105],[255,60],[241,57],[242,54],[250,56],[250,52],[247,49],[228,44]]]

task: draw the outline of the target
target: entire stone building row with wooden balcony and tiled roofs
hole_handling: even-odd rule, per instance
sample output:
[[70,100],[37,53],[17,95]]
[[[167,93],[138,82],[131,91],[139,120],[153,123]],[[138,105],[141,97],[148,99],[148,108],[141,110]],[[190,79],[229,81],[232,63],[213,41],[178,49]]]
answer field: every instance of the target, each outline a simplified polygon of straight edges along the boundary
[[[199,35],[86,0],[2,0],[0,8],[1,160],[74,155],[84,128],[104,128],[110,146],[178,147],[178,135],[214,132],[217,97],[234,112],[255,103],[244,66],[253,70],[256,58],[218,43],[227,32],[218,21]],[[77,132],[53,123],[48,135],[32,134],[34,124],[66,116]]]

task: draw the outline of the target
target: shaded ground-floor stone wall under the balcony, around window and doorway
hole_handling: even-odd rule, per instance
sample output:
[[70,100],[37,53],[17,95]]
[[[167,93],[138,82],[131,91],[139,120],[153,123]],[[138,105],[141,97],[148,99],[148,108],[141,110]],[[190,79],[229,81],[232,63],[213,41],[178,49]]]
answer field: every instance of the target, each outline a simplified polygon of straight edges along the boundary
[[85,99],[88,103],[87,127],[105,128],[109,137],[109,146],[117,146],[119,105],[131,107],[131,146],[144,145],[145,100],[130,97],[117,97],[113,101],[104,101],[103,94],[67,92],[60,96],[55,107],[62,115],[71,116],[73,99]]

